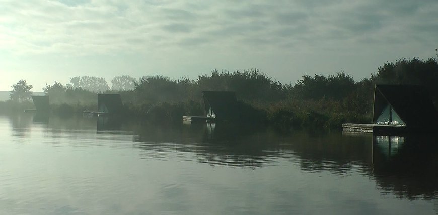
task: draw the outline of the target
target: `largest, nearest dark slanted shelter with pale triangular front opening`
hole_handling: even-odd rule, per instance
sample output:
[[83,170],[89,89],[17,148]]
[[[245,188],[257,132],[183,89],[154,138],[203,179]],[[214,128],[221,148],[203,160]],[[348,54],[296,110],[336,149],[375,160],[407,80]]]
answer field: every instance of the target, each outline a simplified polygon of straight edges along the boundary
[[373,123],[425,128],[438,123],[438,114],[422,86],[376,85]]

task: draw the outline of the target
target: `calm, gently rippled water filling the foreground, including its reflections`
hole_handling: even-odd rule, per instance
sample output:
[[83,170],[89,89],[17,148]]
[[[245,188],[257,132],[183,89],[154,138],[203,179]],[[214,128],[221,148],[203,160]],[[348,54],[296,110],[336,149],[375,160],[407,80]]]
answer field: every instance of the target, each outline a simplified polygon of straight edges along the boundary
[[436,143],[0,116],[0,213],[436,214]]

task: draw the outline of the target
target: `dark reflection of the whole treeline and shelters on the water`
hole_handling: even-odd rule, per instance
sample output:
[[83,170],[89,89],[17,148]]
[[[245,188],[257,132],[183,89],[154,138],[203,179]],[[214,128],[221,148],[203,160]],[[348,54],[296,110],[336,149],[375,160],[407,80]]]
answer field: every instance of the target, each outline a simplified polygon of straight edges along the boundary
[[303,173],[367,176],[382,194],[408,199],[438,196],[438,145],[433,135],[284,133],[227,123],[156,125],[109,117],[60,119],[28,114],[10,116],[9,122],[13,135],[30,137],[31,128],[44,128],[42,131],[54,143],[67,137],[68,144],[114,147],[119,141],[123,145],[117,147],[139,151],[143,159],[177,157],[180,161],[245,169],[290,161],[291,168],[299,167]]

